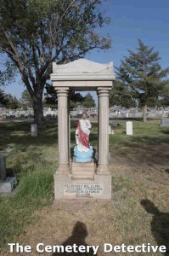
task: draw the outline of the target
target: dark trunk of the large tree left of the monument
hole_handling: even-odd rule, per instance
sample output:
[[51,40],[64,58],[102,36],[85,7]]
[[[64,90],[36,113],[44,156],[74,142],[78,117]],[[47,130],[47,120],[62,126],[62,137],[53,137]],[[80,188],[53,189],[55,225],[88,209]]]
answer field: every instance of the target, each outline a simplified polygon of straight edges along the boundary
[[42,106],[42,93],[37,91],[33,98],[33,110],[34,110],[34,123],[39,124],[44,121],[43,106]]

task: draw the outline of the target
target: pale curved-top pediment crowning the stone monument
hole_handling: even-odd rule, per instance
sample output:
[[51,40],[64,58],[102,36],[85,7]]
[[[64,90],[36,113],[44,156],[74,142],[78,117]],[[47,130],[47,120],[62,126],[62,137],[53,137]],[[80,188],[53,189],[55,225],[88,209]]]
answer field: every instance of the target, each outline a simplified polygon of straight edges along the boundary
[[79,59],[62,65],[53,62],[53,73],[113,73],[113,62],[101,64],[86,59]]

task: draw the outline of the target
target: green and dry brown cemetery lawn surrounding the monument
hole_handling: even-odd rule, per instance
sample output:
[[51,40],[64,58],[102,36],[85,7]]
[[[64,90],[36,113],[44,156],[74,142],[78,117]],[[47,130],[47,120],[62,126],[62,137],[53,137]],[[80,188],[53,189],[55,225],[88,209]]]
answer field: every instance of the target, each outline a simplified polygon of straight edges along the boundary
[[[97,147],[97,123],[95,119],[91,122],[91,144]],[[135,120],[133,136],[127,136],[125,121],[110,121],[115,123],[120,125],[114,128],[115,135],[110,135],[113,199],[67,203],[53,203],[57,124],[39,125],[38,137],[30,136],[28,122],[0,124],[0,154],[6,156],[8,175],[19,181],[13,196],[0,196],[1,255],[11,255],[8,242],[31,245],[31,255],[37,255],[37,243],[62,244],[76,222],[86,224],[86,242],[100,245],[99,256],[105,254],[104,243],[169,242],[169,127],[161,127],[156,120]],[[75,120],[71,127],[73,147]]]

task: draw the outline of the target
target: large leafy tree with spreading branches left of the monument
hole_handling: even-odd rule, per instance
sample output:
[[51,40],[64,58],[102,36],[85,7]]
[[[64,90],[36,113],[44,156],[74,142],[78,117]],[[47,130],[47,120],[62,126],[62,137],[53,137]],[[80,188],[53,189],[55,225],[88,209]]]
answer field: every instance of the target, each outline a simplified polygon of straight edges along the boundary
[[6,72],[17,68],[33,101],[35,122],[43,119],[42,96],[57,64],[84,57],[92,49],[109,49],[99,36],[109,24],[100,0],[1,0],[0,53],[8,56]]

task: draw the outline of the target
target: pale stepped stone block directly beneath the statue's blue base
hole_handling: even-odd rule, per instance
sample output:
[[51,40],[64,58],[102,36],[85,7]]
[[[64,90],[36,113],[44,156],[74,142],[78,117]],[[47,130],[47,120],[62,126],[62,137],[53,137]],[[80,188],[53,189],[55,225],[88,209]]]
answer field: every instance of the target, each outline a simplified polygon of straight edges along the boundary
[[93,160],[87,163],[77,163],[74,160],[71,166],[71,177],[92,179],[94,178],[95,170],[96,165]]

